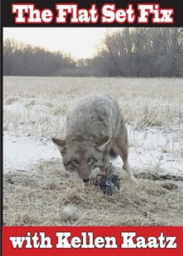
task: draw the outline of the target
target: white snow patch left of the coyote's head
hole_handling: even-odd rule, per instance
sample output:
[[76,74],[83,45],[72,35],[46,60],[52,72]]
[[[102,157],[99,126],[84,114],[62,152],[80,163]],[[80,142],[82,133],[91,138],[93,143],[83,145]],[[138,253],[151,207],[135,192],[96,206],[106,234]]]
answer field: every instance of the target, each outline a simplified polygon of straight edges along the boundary
[[30,164],[60,157],[51,141],[33,136],[16,137],[12,132],[4,132],[3,153],[4,172],[13,169],[29,171]]

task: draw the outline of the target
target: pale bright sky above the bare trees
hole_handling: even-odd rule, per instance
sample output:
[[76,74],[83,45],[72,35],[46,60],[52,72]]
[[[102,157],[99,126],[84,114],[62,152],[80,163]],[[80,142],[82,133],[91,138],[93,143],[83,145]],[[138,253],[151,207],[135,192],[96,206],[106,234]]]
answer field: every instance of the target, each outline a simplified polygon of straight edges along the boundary
[[90,58],[105,38],[106,28],[4,28],[3,35],[4,39],[14,38],[51,51],[68,52],[74,58]]

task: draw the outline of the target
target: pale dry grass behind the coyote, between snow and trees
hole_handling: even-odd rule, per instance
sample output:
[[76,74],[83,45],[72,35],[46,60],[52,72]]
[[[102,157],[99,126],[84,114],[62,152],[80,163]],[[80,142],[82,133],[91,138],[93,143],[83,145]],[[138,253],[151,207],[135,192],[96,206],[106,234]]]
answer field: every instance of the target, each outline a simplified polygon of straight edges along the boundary
[[183,132],[182,79],[164,78],[5,76],[4,103],[13,104],[13,99],[18,98],[22,108],[13,113],[5,108],[4,127],[14,130],[23,121],[24,131],[33,136],[59,136],[63,131],[59,120],[65,116],[68,107],[76,98],[92,93],[115,97],[125,120],[134,129],[159,126]]

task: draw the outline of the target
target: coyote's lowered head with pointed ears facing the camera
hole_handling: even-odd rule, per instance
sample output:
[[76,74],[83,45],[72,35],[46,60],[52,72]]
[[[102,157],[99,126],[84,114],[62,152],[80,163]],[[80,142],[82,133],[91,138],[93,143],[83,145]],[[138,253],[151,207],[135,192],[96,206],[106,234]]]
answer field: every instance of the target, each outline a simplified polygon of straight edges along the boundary
[[109,138],[96,140],[84,140],[79,137],[66,140],[52,138],[52,141],[62,154],[65,169],[76,171],[84,182],[88,182],[91,170],[101,165],[102,152]]

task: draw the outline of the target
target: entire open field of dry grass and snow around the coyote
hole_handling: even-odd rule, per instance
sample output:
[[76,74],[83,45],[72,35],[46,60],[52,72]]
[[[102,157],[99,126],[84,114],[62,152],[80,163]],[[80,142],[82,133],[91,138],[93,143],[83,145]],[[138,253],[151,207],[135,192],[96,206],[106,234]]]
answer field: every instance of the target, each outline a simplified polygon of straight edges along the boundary
[[[131,184],[122,161],[119,192],[82,188],[63,169],[51,137],[63,137],[78,97],[106,93],[127,122]],[[183,79],[4,77],[5,225],[183,225]],[[78,217],[65,219],[66,205]]]

